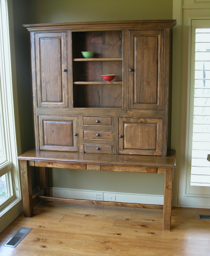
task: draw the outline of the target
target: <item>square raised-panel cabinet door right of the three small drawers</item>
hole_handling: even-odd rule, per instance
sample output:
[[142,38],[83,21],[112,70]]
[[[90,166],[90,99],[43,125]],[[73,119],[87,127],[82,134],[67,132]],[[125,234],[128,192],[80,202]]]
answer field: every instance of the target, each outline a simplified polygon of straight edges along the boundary
[[163,120],[119,118],[119,154],[161,156]]

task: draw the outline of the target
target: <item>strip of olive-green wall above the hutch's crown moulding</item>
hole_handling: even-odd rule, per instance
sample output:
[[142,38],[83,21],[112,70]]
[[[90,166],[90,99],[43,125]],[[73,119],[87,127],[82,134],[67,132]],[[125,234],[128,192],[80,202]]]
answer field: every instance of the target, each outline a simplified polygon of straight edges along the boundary
[[[172,0],[29,0],[35,23],[172,19]],[[31,17],[31,18],[32,18]]]

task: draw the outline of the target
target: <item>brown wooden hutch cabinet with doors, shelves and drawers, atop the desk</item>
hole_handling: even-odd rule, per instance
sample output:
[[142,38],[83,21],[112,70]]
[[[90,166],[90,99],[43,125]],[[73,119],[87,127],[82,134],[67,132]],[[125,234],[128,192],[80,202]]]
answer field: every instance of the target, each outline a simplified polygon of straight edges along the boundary
[[167,155],[174,20],[24,26],[37,150]]

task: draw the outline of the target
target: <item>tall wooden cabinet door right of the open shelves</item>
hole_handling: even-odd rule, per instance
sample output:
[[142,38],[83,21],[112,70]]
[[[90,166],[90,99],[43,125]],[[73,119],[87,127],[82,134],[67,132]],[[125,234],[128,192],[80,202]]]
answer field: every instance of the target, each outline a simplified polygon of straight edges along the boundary
[[164,32],[162,30],[130,31],[129,69],[130,108],[163,109]]

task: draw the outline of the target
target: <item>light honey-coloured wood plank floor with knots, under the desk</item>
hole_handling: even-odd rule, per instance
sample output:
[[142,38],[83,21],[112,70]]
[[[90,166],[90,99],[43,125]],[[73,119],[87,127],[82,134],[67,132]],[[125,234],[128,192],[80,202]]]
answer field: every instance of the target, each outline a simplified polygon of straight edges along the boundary
[[[0,234],[1,256],[210,255],[207,209],[174,208],[172,230],[162,210],[43,202],[32,218],[21,214]],[[15,248],[3,244],[19,228],[33,228]]]

